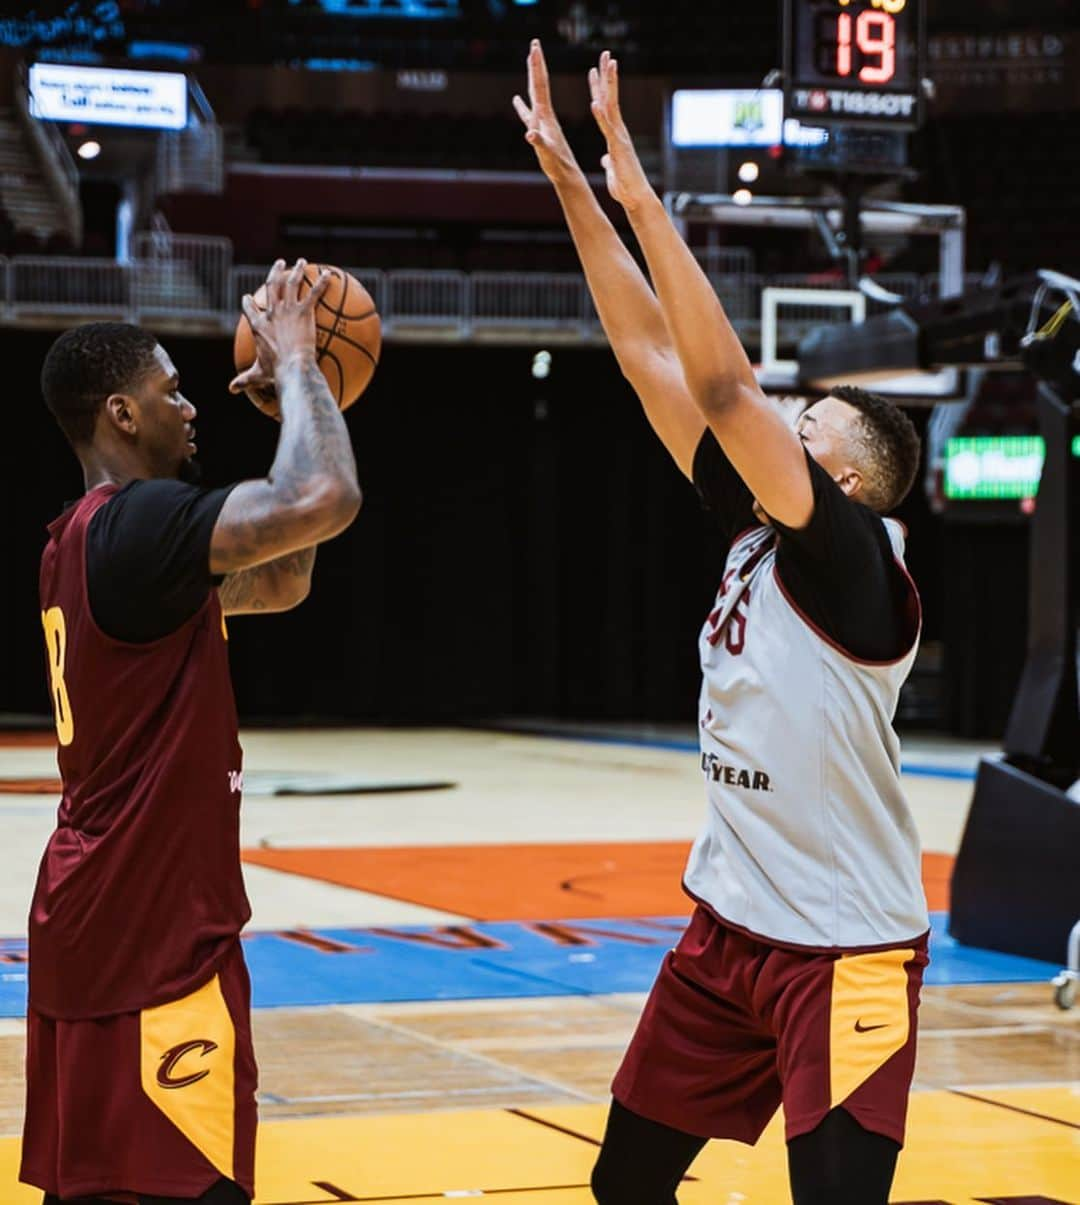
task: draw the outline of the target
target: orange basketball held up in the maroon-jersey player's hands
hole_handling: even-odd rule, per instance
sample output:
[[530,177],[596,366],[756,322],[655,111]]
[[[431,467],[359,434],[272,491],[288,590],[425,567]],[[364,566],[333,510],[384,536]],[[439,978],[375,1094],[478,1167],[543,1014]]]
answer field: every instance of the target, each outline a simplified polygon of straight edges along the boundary
[[[329,264],[309,264],[304,270],[300,296],[311,288],[323,270],[330,274],[327,292],[315,311],[316,357],[318,366],[338,399],[347,410],[368,388],[382,347],[382,323],[371,294],[341,268]],[[254,302],[266,307],[266,286],[259,287]],[[251,368],[256,359],[254,336],[242,315],[233,339],[233,362],[237,372]]]

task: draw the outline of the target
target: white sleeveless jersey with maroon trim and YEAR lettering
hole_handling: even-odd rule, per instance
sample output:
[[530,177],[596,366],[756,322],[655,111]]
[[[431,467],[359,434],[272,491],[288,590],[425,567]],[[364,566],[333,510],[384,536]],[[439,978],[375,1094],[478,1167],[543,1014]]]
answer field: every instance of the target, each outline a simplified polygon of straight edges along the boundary
[[[903,564],[902,528],[885,521]],[[929,928],[892,728],[918,641],[859,662],[796,607],[770,528],[740,536],[702,631],[708,816],[688,892],[768,941],[863,947]]]

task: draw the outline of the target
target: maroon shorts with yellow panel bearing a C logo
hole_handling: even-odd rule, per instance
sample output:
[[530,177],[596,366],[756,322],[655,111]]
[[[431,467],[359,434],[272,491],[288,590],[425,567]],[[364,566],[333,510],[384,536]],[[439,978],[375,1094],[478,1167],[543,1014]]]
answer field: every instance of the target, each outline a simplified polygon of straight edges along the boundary
[[237,941],[180,1000],[100,1021],[27,1016],[19,1178],[61,1198],[254,1195],[251,986]]

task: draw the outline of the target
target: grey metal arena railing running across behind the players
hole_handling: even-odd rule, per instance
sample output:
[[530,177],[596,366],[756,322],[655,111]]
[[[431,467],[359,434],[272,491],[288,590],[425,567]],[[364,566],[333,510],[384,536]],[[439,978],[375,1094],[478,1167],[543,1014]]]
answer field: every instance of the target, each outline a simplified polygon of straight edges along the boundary
[[[227,239],[176,235],[168,229],[135,239],[131,263],[53,255],[0,257],[2,317],[48,323],[116,317],[146,321],[162,330],[229,333],[240,299],[266,277],[263,264],[231,264]],[[530,339],[603,342],[600,322],[585,278],[557,272],[474,272],[350,268],[371,294],[387,336],[399,339]],[[711,275],[738,333],[753,342],[761,333],[767,287],[843,289],[823,274],[727,272]],[[934,298],[935,275],[881,274],[875,281],[905,299]],[[981,277],[972,274],[965,283]],[[871,301],[868,312],[885,308]],[[833,306],[799,306],[780,313],[780,341],[797,342],[810,328],[840,319]]]

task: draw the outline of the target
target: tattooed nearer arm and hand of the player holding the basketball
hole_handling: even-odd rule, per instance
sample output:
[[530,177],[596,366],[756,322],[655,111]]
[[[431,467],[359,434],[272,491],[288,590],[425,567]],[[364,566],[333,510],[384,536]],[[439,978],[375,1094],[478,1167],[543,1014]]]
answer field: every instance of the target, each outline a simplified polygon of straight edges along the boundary
[[[262,565],[329,540],[348,527],[360,506],[345,419],[315,355],[315,307],[329,277],[323,274],[301,298],[304,268],[303,259],[292,270],[282,260],[274,265],[265,311],[251,296],[243,299],[257,366],[272,371],[281,400],[281,436],[268,476],[239,484],[222,507],[210,545],[215,574]],[[233,386],[242,388],[247,375]]]

